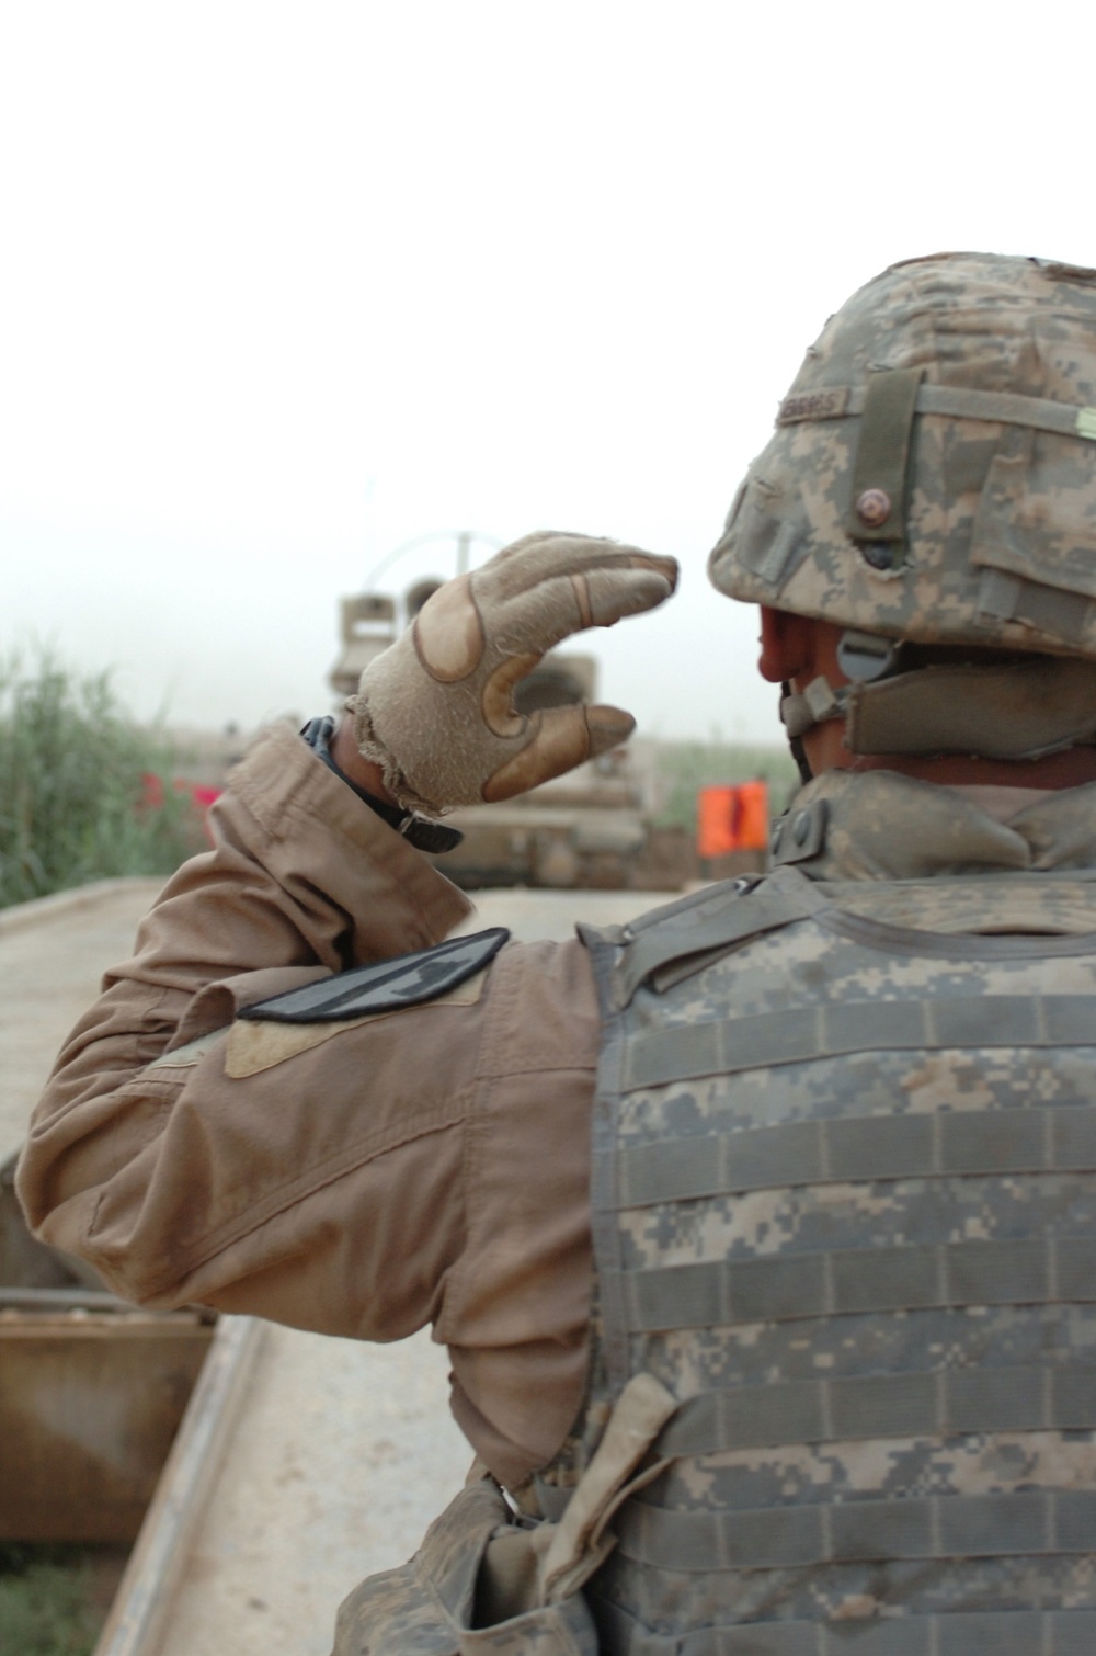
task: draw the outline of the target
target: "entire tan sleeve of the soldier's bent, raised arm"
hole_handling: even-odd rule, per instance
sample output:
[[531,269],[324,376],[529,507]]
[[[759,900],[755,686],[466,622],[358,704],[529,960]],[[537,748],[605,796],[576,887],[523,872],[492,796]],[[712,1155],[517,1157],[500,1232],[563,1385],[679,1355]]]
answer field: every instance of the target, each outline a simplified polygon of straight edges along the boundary
[[439,942],[467,899],[290,732],[214,811],[38,1105],[20,1196],[123,1297],[359,1340],[430,1323],[517,1487],[588,1348],[598,1009],[583,946],[507,944],[449,997],[329,1025],[237,1007]]

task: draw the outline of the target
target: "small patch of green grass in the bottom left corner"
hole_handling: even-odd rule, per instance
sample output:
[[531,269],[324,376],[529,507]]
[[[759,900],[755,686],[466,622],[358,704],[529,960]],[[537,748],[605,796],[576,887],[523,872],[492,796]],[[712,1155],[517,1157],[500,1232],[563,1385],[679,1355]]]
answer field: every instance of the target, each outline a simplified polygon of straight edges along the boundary
[[91,1656],[101,1623],[91,1567],[79,1548],[0,1543],[5,1656]]

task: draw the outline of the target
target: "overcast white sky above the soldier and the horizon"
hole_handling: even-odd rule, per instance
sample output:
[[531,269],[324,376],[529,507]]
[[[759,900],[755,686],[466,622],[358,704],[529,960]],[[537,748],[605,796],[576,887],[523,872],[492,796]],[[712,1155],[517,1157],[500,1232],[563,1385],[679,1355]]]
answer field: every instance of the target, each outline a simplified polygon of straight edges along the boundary
[[[772,740],[705,555],[826,315],[944,248],[1096,263],[1079,3],[0,0],[0,647],[141,715],[324,710],[402,542],[684,561],[593,634]],[[483,548],[485,555],[485,548]],[[404,586],[452,573],[439,543]]]

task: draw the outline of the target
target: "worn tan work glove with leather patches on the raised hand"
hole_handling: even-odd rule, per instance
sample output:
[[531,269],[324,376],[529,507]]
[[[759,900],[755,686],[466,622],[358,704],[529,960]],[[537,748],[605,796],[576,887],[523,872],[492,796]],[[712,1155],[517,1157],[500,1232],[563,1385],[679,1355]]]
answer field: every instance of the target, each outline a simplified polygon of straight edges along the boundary
[[652,609],[677,563],[588,535],[526,535],[447,581],[346,707],[364,758],[409,810],[508,800],[636,729],[619,707],[518,714],[513,687],[561,638]]

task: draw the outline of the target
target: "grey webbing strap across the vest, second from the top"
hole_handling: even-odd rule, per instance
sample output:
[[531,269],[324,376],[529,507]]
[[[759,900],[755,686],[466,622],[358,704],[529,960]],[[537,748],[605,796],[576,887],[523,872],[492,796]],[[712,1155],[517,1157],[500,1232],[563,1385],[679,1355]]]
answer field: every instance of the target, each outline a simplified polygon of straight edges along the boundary
[[1096,1110],[1033,1106],[901,1116],[821,1116],[742,1133],[626,1144],[619,1207],[745,1196],[793,1184],[1096,1172]]

